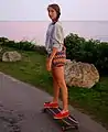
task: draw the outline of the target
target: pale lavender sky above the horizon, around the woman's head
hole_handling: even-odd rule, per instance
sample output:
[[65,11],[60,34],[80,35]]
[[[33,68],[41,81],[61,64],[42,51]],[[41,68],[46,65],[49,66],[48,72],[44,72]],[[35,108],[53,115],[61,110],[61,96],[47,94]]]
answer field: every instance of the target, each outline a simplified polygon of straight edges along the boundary
[[63,21],[107,21],[108,0],[1,0],[0,21],[47,21],[47,4],[58,3]]

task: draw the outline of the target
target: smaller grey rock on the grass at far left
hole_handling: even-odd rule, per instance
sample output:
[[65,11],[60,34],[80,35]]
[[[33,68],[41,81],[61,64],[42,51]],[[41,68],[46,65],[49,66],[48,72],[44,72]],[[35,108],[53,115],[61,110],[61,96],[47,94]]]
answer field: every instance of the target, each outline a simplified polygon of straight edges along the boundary
[[2,55],[2,62],[18,62],[21,61],[21,54],[17,51],[4,52]]

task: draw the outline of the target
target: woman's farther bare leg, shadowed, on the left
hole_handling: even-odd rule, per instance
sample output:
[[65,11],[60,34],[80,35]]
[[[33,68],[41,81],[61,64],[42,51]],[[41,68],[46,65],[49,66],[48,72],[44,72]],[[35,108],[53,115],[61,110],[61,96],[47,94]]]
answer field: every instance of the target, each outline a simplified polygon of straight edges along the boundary
[[53,102],[58,102],[58,96],[60,96],[60,86],[57,84],[57,79],[55,77],[55,72],[52,69],[52,76],[53,76],[53,90],[54,90],[54,98]]

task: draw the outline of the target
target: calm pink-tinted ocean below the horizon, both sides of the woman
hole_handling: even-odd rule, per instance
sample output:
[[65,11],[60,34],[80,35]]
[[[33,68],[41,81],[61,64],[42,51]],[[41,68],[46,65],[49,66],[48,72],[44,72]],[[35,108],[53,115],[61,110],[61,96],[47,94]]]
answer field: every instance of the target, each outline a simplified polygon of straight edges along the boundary
[[[33,41],[44,45],[45,33],[50,21],[1,21],[0,37],[14,41]],[[65,36],[69,33],[85,38],[108,42],[108,21],[62,21]]]

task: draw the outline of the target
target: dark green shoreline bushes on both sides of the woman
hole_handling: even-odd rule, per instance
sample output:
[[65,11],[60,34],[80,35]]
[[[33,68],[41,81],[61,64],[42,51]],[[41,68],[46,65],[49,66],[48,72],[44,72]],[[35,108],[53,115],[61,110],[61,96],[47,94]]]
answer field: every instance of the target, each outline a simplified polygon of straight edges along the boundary
[[[66,54],[68,59],[94,64],[100,74],[108,74],[108,43],[95,40],[85,40],[77,34],[68,34],[64,40]],[[1,46],[9,46],[22,51],[37,51],[45,54],[45,47],[34,45],[32,42],[9,41],[6,37],[0,37]]]

